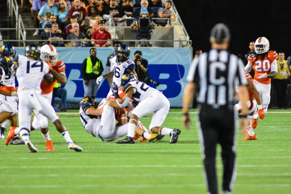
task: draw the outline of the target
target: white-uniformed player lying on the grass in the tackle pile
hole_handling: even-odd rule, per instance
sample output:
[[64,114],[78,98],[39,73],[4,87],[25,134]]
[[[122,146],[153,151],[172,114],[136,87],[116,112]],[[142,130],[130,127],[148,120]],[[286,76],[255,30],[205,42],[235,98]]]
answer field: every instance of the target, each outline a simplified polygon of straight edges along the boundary
[[[102,141],[112,142],[127,134],[128,124],[117,125],[113,107],[119,107],[115,100],[104,98],[101,106],[93,98],[84,97],[80,102],[80,120],[84,129]],[[120,108],[120,107],[119,107]],[[150,134],[142,129],[141,123],[135,128],[136,133],[145,137],[149,142],[160,139],[157,134]]]

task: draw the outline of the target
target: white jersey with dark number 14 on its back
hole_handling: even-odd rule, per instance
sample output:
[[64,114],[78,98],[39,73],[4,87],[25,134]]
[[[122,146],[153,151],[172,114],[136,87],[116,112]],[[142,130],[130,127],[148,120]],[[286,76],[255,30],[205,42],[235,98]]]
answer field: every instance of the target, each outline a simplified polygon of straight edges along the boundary
[[24,55],[17,55],[14,61],[18,65],[16,78],[18,81],[17,93],[28,93],[34,90],[36,94],[41,94],[40,83],[44,75],[49,73],[49,65],[43,61],[36,61]]

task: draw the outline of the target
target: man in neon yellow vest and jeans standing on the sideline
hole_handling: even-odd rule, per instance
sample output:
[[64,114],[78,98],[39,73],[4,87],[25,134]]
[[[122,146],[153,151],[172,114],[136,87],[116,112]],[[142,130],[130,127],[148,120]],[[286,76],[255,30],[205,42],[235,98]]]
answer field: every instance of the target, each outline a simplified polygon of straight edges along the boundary
[[96,57],[95,48],[90,49],[90,56],[84,59],[81,65],[81,73],[83,77],[84,97],[92,97],[95,99],[99,84],[96,83],[98,77],[102,75],[102,61]]

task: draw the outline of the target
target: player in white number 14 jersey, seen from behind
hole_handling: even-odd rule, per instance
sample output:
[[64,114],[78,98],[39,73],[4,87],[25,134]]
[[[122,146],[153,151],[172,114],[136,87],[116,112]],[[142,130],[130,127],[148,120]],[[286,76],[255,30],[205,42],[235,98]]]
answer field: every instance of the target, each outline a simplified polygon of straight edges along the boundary
[[45,115],[56,126],[57,130],[63,135],[69,149],[82,151],[80,146],[74,144],[69,132],[60,121],[50,103],[41,95],[40,83],[46,74],[52,70],[49,62],[39,61],[40,48],[31,44],[25,48],[25,56],[17,55],[14,61],[13,69],[16,70],[18,81],[18,120],[19,128],[10,129],[7,142],[16,134],[19,134],[24,140],[25,145],[31,152],[37,152],[36,147],[32,144],[29,134],[31,130],[32,110]]

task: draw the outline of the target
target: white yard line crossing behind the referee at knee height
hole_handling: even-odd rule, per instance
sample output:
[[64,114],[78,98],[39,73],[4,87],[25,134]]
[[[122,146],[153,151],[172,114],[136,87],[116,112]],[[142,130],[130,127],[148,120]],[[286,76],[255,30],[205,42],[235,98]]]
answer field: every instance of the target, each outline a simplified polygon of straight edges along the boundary
[[[218,167],[222,167],[222,165],[217,165]],[[255,164],[250,164],[250,165],[237,165],[238,167],[241,168],[252,168],[252,167],[291,167],[291,165],[288,164],[263,164],[263,165],[255,165]],[[0,169],[14,169],[14,168],[44,168],[44,169],[49,169],[49,168],[201,168],[203,165],[59,165],[59,166],[0,166]]]

